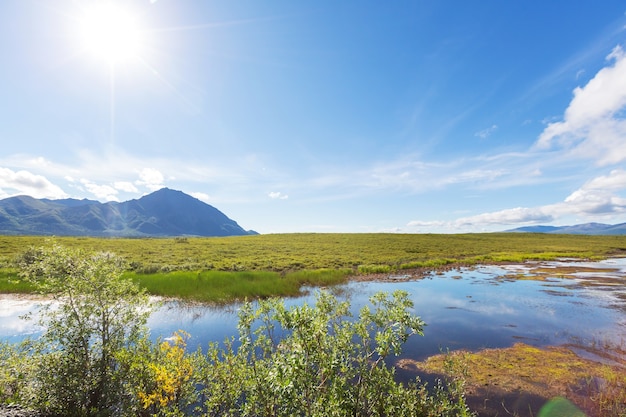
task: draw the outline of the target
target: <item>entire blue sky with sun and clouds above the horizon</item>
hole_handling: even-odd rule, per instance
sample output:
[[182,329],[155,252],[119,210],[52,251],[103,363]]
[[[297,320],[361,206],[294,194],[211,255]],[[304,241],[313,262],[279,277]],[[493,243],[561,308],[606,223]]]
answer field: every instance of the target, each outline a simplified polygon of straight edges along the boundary
[[619,1],[0,0],[0,198],[259,233],[626,222]]

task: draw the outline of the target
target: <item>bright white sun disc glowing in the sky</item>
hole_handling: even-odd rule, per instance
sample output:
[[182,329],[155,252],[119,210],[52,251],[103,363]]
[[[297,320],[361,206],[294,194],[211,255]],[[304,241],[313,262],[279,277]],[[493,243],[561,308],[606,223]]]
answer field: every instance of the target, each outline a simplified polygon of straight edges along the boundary
[[143,33],[130,10],[114,3],[101,3],[83,11],[80,40],[93,57],[117,65],[140,55]]

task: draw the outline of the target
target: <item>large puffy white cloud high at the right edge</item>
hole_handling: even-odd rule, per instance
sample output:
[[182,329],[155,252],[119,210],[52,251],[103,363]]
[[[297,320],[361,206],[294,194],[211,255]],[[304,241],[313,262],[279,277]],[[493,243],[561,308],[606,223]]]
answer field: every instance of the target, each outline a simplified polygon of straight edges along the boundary
[[607,60],[608,66],[574,90],[563,120],[548,124],[538,149],[559,146],[599,165],[626,160],[626,53],[617,46]]

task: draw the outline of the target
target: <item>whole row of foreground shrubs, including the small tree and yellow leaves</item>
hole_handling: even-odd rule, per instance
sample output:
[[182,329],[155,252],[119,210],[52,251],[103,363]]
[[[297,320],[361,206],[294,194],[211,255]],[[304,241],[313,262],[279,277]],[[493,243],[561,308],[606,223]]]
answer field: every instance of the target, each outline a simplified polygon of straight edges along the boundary
[[467,416],[462,384],[427,390],[386,363],[424,323],[406,292],[350,304],[245,303],[239,337],[185,351],[186,335],[152,342],[147,300],[113,255],[53,244],[22,258],[59,307],[40,340],[0,346],[0,403],[68,416]]

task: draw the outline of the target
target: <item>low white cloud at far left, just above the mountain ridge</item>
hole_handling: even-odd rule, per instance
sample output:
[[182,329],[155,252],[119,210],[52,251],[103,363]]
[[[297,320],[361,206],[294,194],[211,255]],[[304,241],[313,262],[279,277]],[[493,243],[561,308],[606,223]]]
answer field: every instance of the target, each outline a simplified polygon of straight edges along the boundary
[[[25,194],[35,198],[65,198],[67,194],[42,175],[0,167],[0,188],[5,195]],[[6,190],[10,191],[6,191]]]

